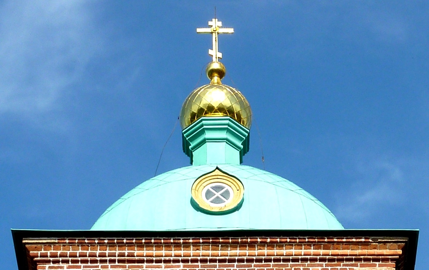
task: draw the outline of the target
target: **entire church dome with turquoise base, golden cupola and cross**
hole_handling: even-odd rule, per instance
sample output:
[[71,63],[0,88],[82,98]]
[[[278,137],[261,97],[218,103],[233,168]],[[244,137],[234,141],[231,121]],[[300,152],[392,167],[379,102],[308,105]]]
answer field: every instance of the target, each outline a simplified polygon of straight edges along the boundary
[[185,100],[180,121],[182,148],[192,166],[178,168],[136,186],[112,204],[91,230],[222,231],[343,229],[320,201],[294,183],[241,165],[250,144],[251,108],[233,87],[222,84],[216,18],[199,33],[213,36],[210,84]]

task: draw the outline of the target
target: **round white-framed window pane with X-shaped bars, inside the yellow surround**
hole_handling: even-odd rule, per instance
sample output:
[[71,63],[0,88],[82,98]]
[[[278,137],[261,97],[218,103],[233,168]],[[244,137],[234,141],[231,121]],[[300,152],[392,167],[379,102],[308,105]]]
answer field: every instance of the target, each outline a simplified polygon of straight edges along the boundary
[[224,183],[212,183],[202,189],[202,199],[211,206],[224,206],[234,196],[233,189]]

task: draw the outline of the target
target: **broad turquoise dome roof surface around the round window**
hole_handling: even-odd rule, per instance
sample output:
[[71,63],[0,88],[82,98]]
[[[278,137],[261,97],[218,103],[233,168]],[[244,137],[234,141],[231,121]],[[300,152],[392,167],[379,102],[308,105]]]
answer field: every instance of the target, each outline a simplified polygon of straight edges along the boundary
[[[199,211],[191,187],[218,167],[245,189],[241,207],[224,215]],[[91,230],[183,231],[230,229],[343,229],[335,216],[308,192],[278,175],[245,165],[208,164],[178,168],[153,177],[122,196]]]

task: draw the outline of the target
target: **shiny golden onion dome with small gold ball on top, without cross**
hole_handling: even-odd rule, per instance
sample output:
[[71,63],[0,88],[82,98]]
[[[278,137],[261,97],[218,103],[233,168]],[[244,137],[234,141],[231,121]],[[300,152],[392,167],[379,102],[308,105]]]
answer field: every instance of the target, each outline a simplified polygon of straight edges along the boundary
[[220,62],[208,64],[206,73],[210,84],[198,87],[185,99],[180,113],[182,129],[203,116],[229,116],[250,129],[252,111],[249,102],[239,90],[221,84],[225,72],[225,66]]

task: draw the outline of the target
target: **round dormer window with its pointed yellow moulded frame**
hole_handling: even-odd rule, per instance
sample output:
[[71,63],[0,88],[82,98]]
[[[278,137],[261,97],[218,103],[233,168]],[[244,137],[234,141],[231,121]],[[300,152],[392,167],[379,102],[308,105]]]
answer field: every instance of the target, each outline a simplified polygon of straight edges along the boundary
[[[204,174],[192,185],[192,198],[199,208],[209,212],[229,213],[242,202],[244,187],[236,177],[219,168]],[[228,211],[228,212],[225,212]]]

